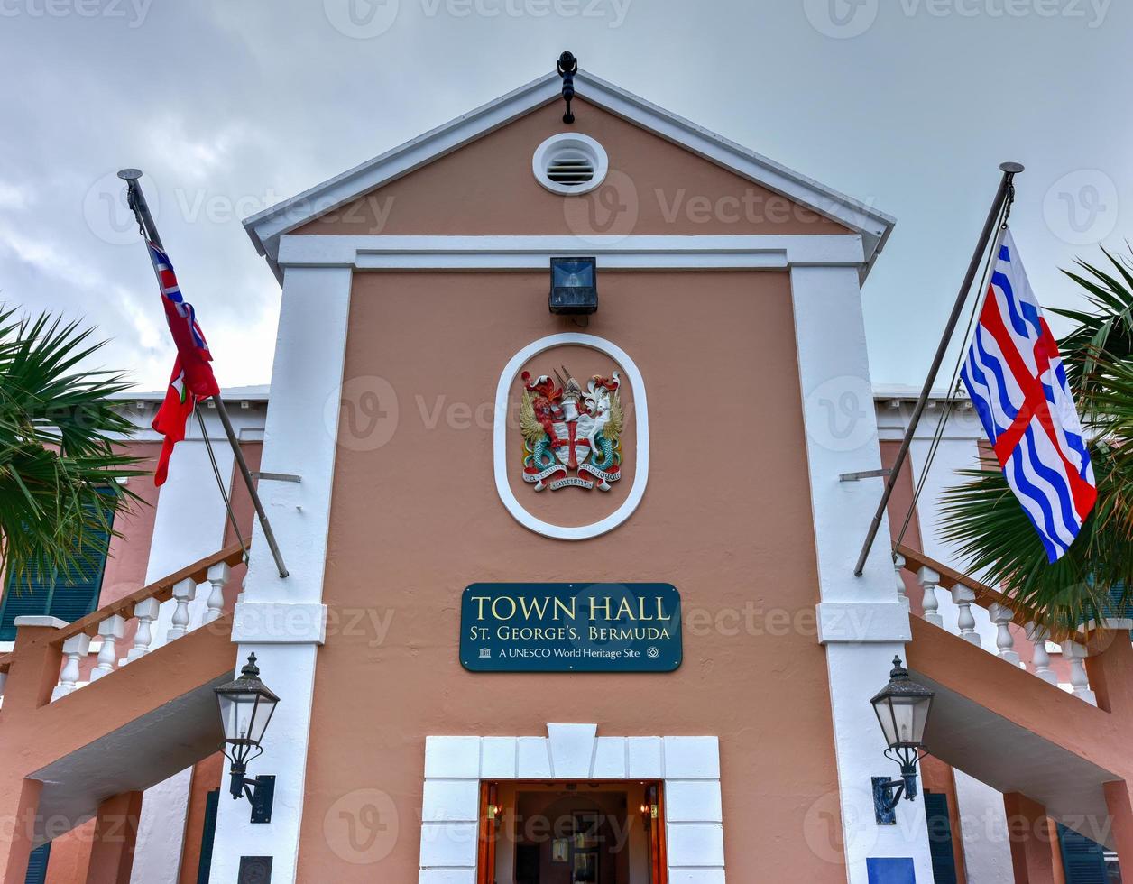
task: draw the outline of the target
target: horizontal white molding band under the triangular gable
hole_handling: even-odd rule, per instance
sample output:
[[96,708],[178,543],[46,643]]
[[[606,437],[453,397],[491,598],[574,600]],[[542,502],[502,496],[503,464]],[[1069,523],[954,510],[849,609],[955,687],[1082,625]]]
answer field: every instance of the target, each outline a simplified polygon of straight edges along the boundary
[[594,255],[602,270],[859,269],[857,233],[641,236],[339,236],[282,237],[282,267],[352,270],[542,270],[552,256]]

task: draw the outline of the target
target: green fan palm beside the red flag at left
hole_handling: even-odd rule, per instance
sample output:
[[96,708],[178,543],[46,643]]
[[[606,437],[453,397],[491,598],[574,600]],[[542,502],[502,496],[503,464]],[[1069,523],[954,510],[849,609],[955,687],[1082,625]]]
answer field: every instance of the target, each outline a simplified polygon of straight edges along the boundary
[[144,474],[114,449],[133,426],[109,401],[129,383],[80,367],[105,343],[91,333],[0,308],[0,560],[17,589],[79,572],[138,500],[117,482]]

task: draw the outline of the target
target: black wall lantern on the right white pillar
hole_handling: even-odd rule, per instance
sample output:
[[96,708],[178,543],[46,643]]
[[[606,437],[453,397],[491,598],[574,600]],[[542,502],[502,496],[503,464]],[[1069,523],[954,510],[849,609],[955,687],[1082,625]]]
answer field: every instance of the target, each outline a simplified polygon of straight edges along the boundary
[[885,757],[901,767],[900,780],[872,777],[874,815],[878,825],[896,824],[896,807],[902,796],[909,801],[917,798],[917,764],[925,748],[925,725],[935,696],[909,678],[901,657],[894,657],[889,683],[870,700],[885,733],[888,747]]

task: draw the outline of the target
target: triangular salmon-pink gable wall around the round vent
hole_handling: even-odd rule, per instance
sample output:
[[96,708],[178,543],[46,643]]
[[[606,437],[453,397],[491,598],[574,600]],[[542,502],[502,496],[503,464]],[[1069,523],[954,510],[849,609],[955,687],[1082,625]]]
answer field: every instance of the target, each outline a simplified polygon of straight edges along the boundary
[[564,198],[531,171],[536,147],[568,128],[548,105],[305,224],[297,233],[846,233],[786,197],[582,100],[569,127],[610,158],[605,182]]

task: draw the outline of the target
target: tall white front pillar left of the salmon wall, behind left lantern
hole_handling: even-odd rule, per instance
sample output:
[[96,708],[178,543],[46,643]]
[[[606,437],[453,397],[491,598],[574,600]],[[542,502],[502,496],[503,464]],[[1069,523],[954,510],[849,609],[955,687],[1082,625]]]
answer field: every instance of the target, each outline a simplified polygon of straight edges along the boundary
[[264,683],[280,696],[264,754],[248,771],[275,775],[275,802],[271,823],[255,825],[247,801],[220,802],[215,882],[236,881],[241,856],[273,857],[272,884],[296,881],[350,282],[349,269],[286,271],[262,469],[298,474],[303,482],[262,482],[259,494],[290,576],[276,573],[257,524],[232,630],[237,665],[255,652]]

